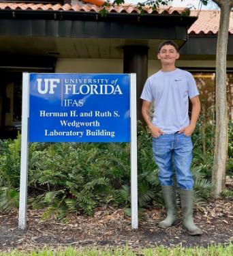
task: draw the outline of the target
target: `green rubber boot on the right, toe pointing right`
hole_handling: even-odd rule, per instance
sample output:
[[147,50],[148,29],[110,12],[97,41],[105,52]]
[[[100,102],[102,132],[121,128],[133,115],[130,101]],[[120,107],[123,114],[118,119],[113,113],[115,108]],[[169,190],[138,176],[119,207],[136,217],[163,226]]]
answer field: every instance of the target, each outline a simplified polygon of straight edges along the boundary
[[202,230],[193,223],[193,190],[180,190],[183,226],[191,236],[202,235]]

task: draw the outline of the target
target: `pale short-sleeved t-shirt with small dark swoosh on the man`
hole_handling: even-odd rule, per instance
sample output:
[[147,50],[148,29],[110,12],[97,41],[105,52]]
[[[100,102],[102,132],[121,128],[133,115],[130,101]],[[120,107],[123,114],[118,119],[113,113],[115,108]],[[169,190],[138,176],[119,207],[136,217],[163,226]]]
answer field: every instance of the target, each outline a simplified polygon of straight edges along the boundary
[[154,104],[152,123],[164,133],[172,134],[189,126],[189,99],[199,95],[191,73],[176,68],[150,76],[141,98]]

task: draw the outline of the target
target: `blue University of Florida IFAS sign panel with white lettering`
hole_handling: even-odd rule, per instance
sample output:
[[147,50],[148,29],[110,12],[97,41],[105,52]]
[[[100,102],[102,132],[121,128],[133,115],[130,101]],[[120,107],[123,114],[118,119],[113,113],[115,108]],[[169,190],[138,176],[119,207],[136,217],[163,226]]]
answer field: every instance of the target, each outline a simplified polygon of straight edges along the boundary
[[129,142],[129,74],[30,74],[30,142]]

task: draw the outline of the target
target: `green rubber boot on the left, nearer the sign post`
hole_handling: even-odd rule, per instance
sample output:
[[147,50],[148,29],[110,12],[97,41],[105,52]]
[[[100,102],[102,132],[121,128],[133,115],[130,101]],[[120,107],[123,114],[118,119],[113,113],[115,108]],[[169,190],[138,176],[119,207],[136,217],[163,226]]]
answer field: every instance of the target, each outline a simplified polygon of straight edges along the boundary
[[161,186],[161,188],[167,209],[167,218],[159,223],[159,227],[161,229],[167,229],[178,223],[176,214],[176,190],[174,186]]

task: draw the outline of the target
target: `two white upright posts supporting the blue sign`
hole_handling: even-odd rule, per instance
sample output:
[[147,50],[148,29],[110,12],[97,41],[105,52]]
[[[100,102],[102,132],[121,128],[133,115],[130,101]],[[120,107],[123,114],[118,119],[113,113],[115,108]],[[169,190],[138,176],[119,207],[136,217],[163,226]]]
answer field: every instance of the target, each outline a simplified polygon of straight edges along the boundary
[[[130,160],[131,160],[131,228],[138,229],[138,164],[137,164],[137,109],[136,74],[130,75]],[[22,135],[20,162],[20,203],[18,229],[27,225],[27,180],[28,180],[28,121],[29,121],[29,73],[22,74]]]

